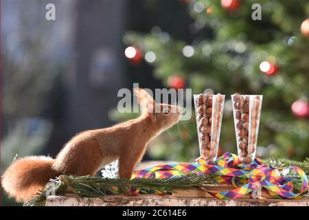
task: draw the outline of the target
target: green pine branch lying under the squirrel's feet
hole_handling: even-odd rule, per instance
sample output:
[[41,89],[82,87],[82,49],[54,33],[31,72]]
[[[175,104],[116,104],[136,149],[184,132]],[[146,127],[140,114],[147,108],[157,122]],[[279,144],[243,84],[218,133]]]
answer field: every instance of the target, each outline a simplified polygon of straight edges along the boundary
[[80,197],[101,197],[105,195],[119,195],[128,192],[130,188],[136,188],[141,193],[155,193],[158,191],[171,193],[175,189],[192,189],[202,184],[214,184],[214,177],[211,175],[188,175],[157,179],[138,178],[138,179],[106,179],[102,177],[72,177],[61,175],[53,180],[55,186],[47,186],[38,196],[24,203],[24,206],[43,206],[46,201],[46,192],[54,190],[56,195],[66,193],[76,194]]

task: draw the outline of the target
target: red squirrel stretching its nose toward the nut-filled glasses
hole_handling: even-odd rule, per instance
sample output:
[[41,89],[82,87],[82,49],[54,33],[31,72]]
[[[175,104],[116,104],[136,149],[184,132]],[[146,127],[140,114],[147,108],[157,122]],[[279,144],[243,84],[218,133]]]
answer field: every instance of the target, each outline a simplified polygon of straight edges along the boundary
[[[62,148],[56,159],[30,156],[16,159],[3,173],[2,186],[16,201],[27,201],[49,179],[59,175],[95,175],[119,159],[119,177],[130,179],[141,161],[146,145],[179,121],[182,109],[176,105],[157,104],[144,89],[134,89],[141,115],[109,128],[78,133]],[[157,111],[157,109],[163,109]]]

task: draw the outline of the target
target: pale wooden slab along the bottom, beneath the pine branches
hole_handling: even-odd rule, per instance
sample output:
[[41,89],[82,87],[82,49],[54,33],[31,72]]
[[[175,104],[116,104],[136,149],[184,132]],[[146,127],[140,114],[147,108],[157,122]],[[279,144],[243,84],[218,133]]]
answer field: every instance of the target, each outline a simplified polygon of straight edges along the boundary
[[46,206],[309,206],[309,199],[233,199],[173,197],[170,195],[106,196],[80,198],[50,196]]

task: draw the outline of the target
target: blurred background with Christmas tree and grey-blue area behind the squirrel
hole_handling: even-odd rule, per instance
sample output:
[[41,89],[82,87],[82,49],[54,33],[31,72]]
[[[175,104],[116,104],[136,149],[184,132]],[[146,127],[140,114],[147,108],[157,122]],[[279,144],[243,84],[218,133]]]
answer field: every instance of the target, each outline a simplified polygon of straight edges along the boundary
[[[1,173],[14,157],[54,157],[80,131],[134,118],[115,109],[133,83],[225,94],[219,154],[236,153],[230,95],[262,94],[258,157],[309,157],[308,16],[306,0],[2,0]],[[144,159],[198,152],[192,115]]]

